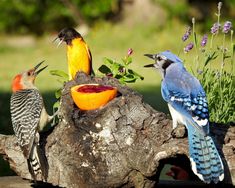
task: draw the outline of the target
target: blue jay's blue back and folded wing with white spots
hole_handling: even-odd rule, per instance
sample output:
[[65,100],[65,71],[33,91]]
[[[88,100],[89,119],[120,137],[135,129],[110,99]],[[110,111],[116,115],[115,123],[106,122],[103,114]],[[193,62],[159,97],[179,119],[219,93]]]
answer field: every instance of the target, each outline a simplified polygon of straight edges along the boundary
[[204,134],[209,132],[206,94],[199,81],[185,69],[181,69],[181,72],[175,70],[173,76],[166,75],[162,81],[162,96],[196,129]]

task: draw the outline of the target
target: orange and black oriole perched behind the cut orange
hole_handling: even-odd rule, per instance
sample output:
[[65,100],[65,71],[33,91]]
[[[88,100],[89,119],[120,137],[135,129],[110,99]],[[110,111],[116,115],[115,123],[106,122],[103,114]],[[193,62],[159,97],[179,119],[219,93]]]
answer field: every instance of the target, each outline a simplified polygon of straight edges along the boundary
[[59,32],[58,38],[67,44],[69,79],[74,79],[79,71],[94,74],[91,52],[81,34],[73,28],[64,28]]

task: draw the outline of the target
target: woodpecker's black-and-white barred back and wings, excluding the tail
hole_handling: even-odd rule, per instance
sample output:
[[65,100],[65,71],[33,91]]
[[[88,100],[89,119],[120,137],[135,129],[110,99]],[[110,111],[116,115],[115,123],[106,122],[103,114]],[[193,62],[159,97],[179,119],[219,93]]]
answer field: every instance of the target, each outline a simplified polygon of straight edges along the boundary
[[28,159],[40,122],[43,99],[37,89],[20,90],[11,96],[11,120],[18,143]]

